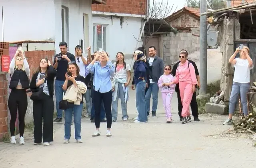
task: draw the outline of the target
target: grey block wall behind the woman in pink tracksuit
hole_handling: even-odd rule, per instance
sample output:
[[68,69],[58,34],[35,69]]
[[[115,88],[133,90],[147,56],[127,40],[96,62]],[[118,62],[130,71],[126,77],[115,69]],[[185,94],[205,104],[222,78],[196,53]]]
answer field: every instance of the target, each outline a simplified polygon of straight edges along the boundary
[[170,33],[164,35],[163,44],[164,63],[171,64],[178,60],[180,50],[185,49],[188,53],[199,50],[200,37],[192,32],[180,32],[176,35]]

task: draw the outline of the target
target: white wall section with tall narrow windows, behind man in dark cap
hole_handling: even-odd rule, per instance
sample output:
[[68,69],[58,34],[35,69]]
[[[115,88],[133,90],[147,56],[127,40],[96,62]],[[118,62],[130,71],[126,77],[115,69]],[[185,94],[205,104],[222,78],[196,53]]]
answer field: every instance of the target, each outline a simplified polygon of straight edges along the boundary
[[74,54],[76,45],[79,44],[80,39],[84,39],[83,32],[83,16],[88,14],[88,28],[90,33],[88,37],[88,44],[85,44],[85,49],[92,45],[92,0],[55,0],[55,48],[56,53],[60,52],[59,43],[62,41],[62,22],[61,9],[62,6],[68,8],[68,50]]

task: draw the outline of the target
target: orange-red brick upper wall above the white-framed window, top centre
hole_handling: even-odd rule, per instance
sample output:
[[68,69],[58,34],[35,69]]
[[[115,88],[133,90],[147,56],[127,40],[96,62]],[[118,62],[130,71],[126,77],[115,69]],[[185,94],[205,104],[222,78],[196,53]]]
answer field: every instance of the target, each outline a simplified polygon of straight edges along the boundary
[[92,4],[92,11],[139,14],[146,12],[146,0],[107,0],[107,4]]

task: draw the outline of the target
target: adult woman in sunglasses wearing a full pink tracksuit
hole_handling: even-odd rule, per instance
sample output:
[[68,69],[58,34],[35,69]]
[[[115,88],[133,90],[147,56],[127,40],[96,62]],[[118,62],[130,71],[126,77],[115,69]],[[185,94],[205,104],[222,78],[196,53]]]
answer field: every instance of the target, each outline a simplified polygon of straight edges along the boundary
[[180,64],[176,70],[176,76],[174,81],[170,84],[179,83],[180,88],[180,98],[182,101],[182,124],[186,122],[191,122],[189,106],[193,96],[193,93],[196,91],[196,73],[195,68],[190,62],[188,62],[188,52],[182,50],[180,52]]

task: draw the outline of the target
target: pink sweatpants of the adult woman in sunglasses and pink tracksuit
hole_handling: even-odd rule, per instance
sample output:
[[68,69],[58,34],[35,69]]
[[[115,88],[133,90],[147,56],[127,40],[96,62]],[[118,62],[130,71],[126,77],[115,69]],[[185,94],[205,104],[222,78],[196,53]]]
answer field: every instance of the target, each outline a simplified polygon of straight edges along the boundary
[[190,116],[189,106],[193,96],[192,81],[179,82],[180,98],[182,102],[182,117]]

